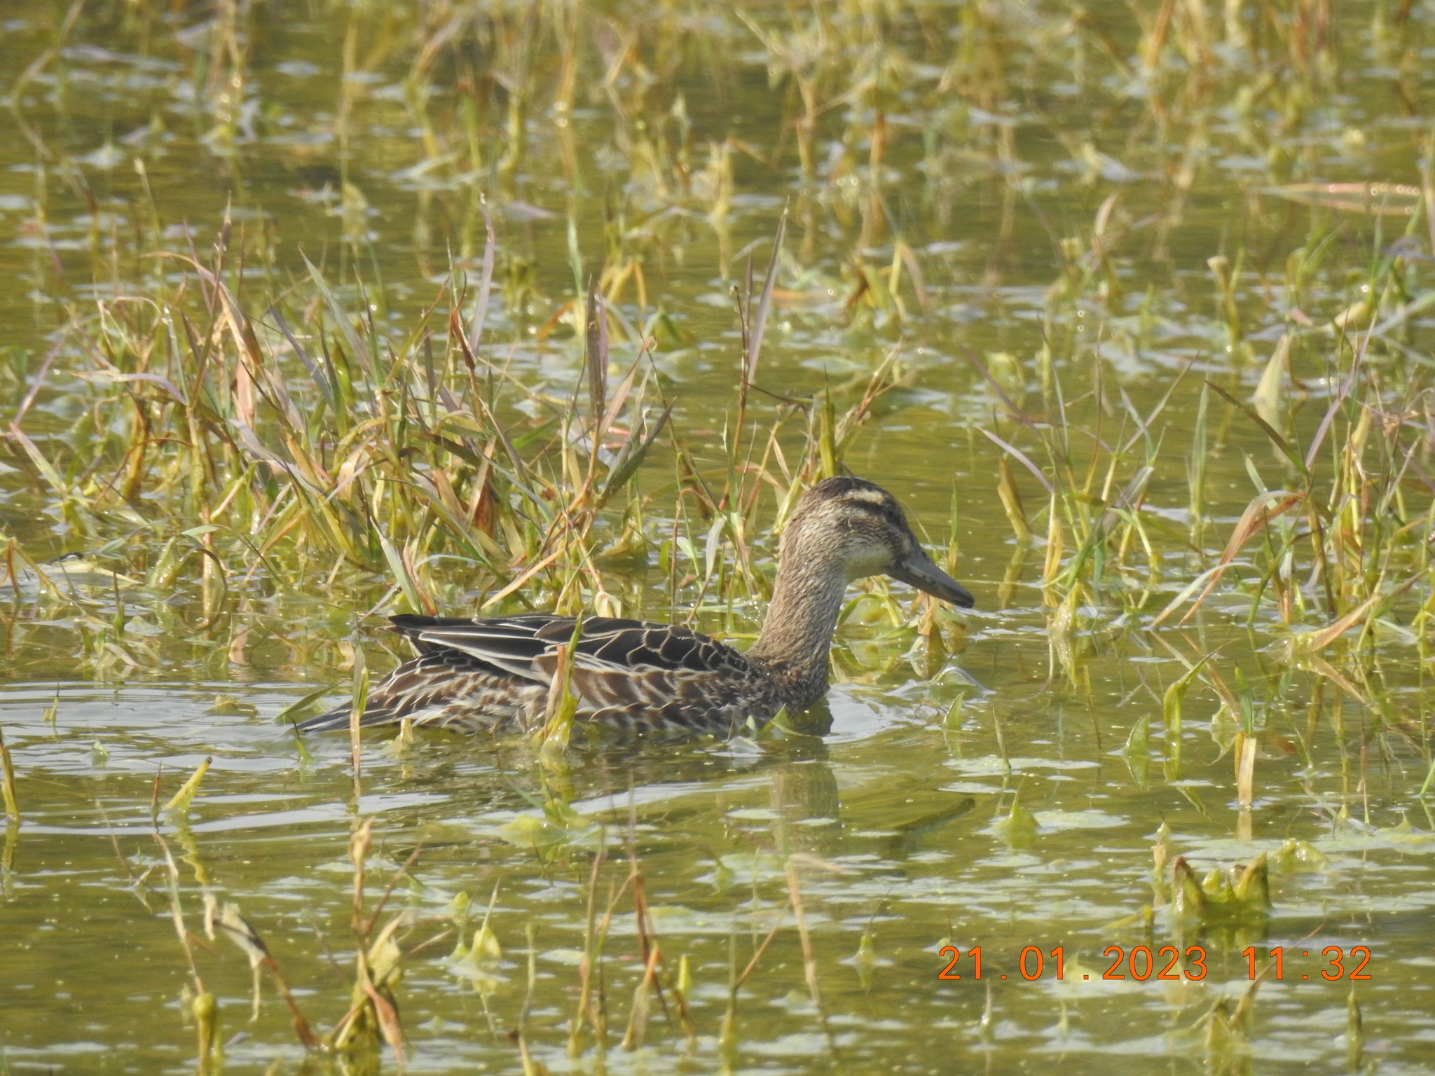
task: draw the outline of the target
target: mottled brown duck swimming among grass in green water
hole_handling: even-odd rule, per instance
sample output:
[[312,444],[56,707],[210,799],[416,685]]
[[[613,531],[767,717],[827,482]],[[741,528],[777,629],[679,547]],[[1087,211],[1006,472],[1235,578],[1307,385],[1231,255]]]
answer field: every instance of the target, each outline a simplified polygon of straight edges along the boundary
[[[761,727],[827,693],[847,587],[868,575],[888,575],[960,608],[976,604],[926,554],[891,494],[861,478],[827,478],[802,495],[782,531],[772,600],[746,651],[683,624],[646,620],[400,614],[389,618],[392,630],[418,653],[367,694],[359,723],[531,732],[544,725],[554,677],[567,664],[575,726],[715,736],[749,720]],[[349,729],[352,709],[339,706],[298,727]]]

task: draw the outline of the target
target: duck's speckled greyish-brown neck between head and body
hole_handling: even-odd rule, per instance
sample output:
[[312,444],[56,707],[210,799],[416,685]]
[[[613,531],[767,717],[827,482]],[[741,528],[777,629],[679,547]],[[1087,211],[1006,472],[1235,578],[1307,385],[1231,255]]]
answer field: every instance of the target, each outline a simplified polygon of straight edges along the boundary
[[786,706],[809,706],[827,692],[827,661],[842,611],[847,574],[837,557],[786,535],[772,604],[748,660],[768,673]]

